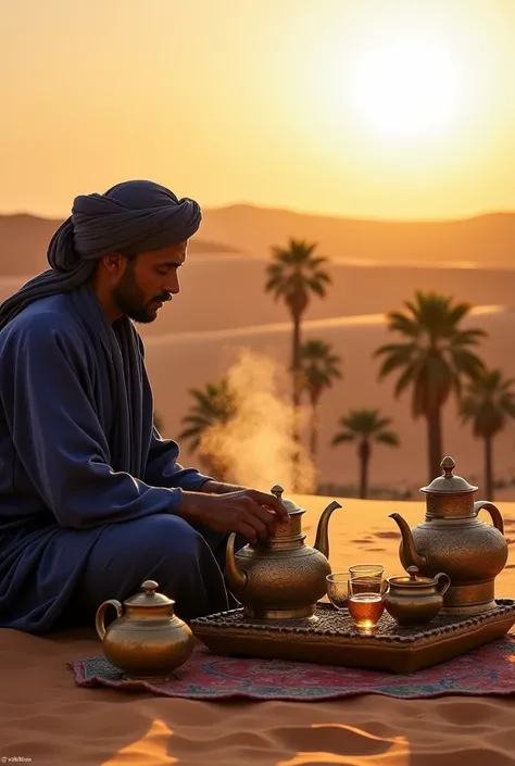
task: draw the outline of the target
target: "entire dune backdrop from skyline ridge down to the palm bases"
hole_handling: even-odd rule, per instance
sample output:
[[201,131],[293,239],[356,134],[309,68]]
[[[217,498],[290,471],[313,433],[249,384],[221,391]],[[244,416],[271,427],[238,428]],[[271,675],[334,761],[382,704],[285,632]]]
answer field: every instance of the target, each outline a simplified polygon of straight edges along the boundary
[[[0,216],[0,300],[47,267],[47,244],[59,223],[27,215]],[[246,205],[205,211],[200,236],[192,240],[190,258],[180,271],[181,293],[161,310],[153,324],[138,326],[147,342],[149,373],[166,436],[174,438],[180,430],[180,418],[190,404],[188,388],[218,380],[237,363],[241,350],[267,354],[278,369],[289,364],[289,316],[264,292],[264,284],[271,247],[286,244],[290,236],[317,241],[321,254],[334,256],[327,299],[313,300],[304,323],[305,338],[330,341],[343,361],[343,380],[322,400],[322,480],[356,482],[354,448],[332,449],[329,441],[341,414],[379,407],[393,418],[402,447],[374,450],[372,485],[423,486],[427,480],[425,422],[412,420],[409,395],[393,399],[393,379],[377,382],[378,363],[372,359],[378,346],[393,339],[386,330],[384,313],[401,309],[419,288],[469,301],[475,310],[465,324],[483,327],[490,336],[480,354],[487,364],[515,378],[515,215],[404,224]],[[357,265],[361,259],[363,265]],[[451,267],[451,261],[460,263]],[[370,262],[376,262],[374,268],[366,267]],[[448,267],[438,267],[442,263]],[[466,267],[470,263],[476,267]],[[472,438],[469,427],[457,425],[454,404],[445,406],[443,427],[444,451],[454,456],[456,473],[481,487],[482,444]],[[183,461],[194,464],[194,455],[186,444],[181,448]],[[514,449],[515,426],[510,425],[494,441],[497,477],[515,476]],[[285,479],[277,476],[275,481]],[[497,497],[515,499],[515,489],[502,490]]]

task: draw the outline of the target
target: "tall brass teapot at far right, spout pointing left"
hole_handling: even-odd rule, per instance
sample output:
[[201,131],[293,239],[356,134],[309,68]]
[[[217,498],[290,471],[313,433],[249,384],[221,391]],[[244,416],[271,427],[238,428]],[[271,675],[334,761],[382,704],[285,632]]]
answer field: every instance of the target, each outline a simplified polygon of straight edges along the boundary
[[[401,530],[400,558],[404,569],[418,567],[420,575],[445,572],[451,587],[443,598],[442,614],[476,615],[495,608],[494,580],[507,561],[504,524],[499,508],[486,500],[474,501],[477,487],[453,476],[455,463],[444,457],[442,476],[420,492],[426,494],[426,517],[410,529],[398,513],[390,514]],[[490,514],[493,526],[477,518]]]

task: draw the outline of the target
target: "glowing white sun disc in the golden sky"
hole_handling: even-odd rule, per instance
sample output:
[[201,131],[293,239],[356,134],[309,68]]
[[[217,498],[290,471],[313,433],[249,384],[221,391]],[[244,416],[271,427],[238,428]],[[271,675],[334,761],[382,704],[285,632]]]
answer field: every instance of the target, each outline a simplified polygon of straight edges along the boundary
[[391,40],[364,50],[349,83],[356,116],[392,138],[441,135],[460,110],[460,67],[437,41]]

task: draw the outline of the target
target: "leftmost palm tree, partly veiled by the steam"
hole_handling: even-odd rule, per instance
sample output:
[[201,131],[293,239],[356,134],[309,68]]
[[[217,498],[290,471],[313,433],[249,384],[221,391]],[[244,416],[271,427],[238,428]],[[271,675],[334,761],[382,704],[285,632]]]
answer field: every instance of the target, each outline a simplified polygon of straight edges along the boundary
[[186,428],[179,434],[179,439],[189,440],[191,452],[198,452],[208,473],[221,481],[227,478],[230,466],[223,455],[213,455],[202,450],[202,439],[213,427],[228,423],[236,413],[236,397],[230,390],[228,380],[223,378],[219,382],[208,382],[203,390],[189,389],[193,397],[193,404],[188,415],[183,417]]

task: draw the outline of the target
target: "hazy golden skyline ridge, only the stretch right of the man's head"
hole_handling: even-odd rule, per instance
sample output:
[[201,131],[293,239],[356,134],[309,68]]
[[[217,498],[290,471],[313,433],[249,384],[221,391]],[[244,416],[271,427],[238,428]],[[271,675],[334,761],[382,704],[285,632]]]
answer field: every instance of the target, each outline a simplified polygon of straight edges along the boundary
[[368,263],[473,263],[513,268],[515,216],[492,213],[461,221],[370,221],[252,205],[204,211],[202,237],[251,253],[287,239],[321,243],[334,258]]

